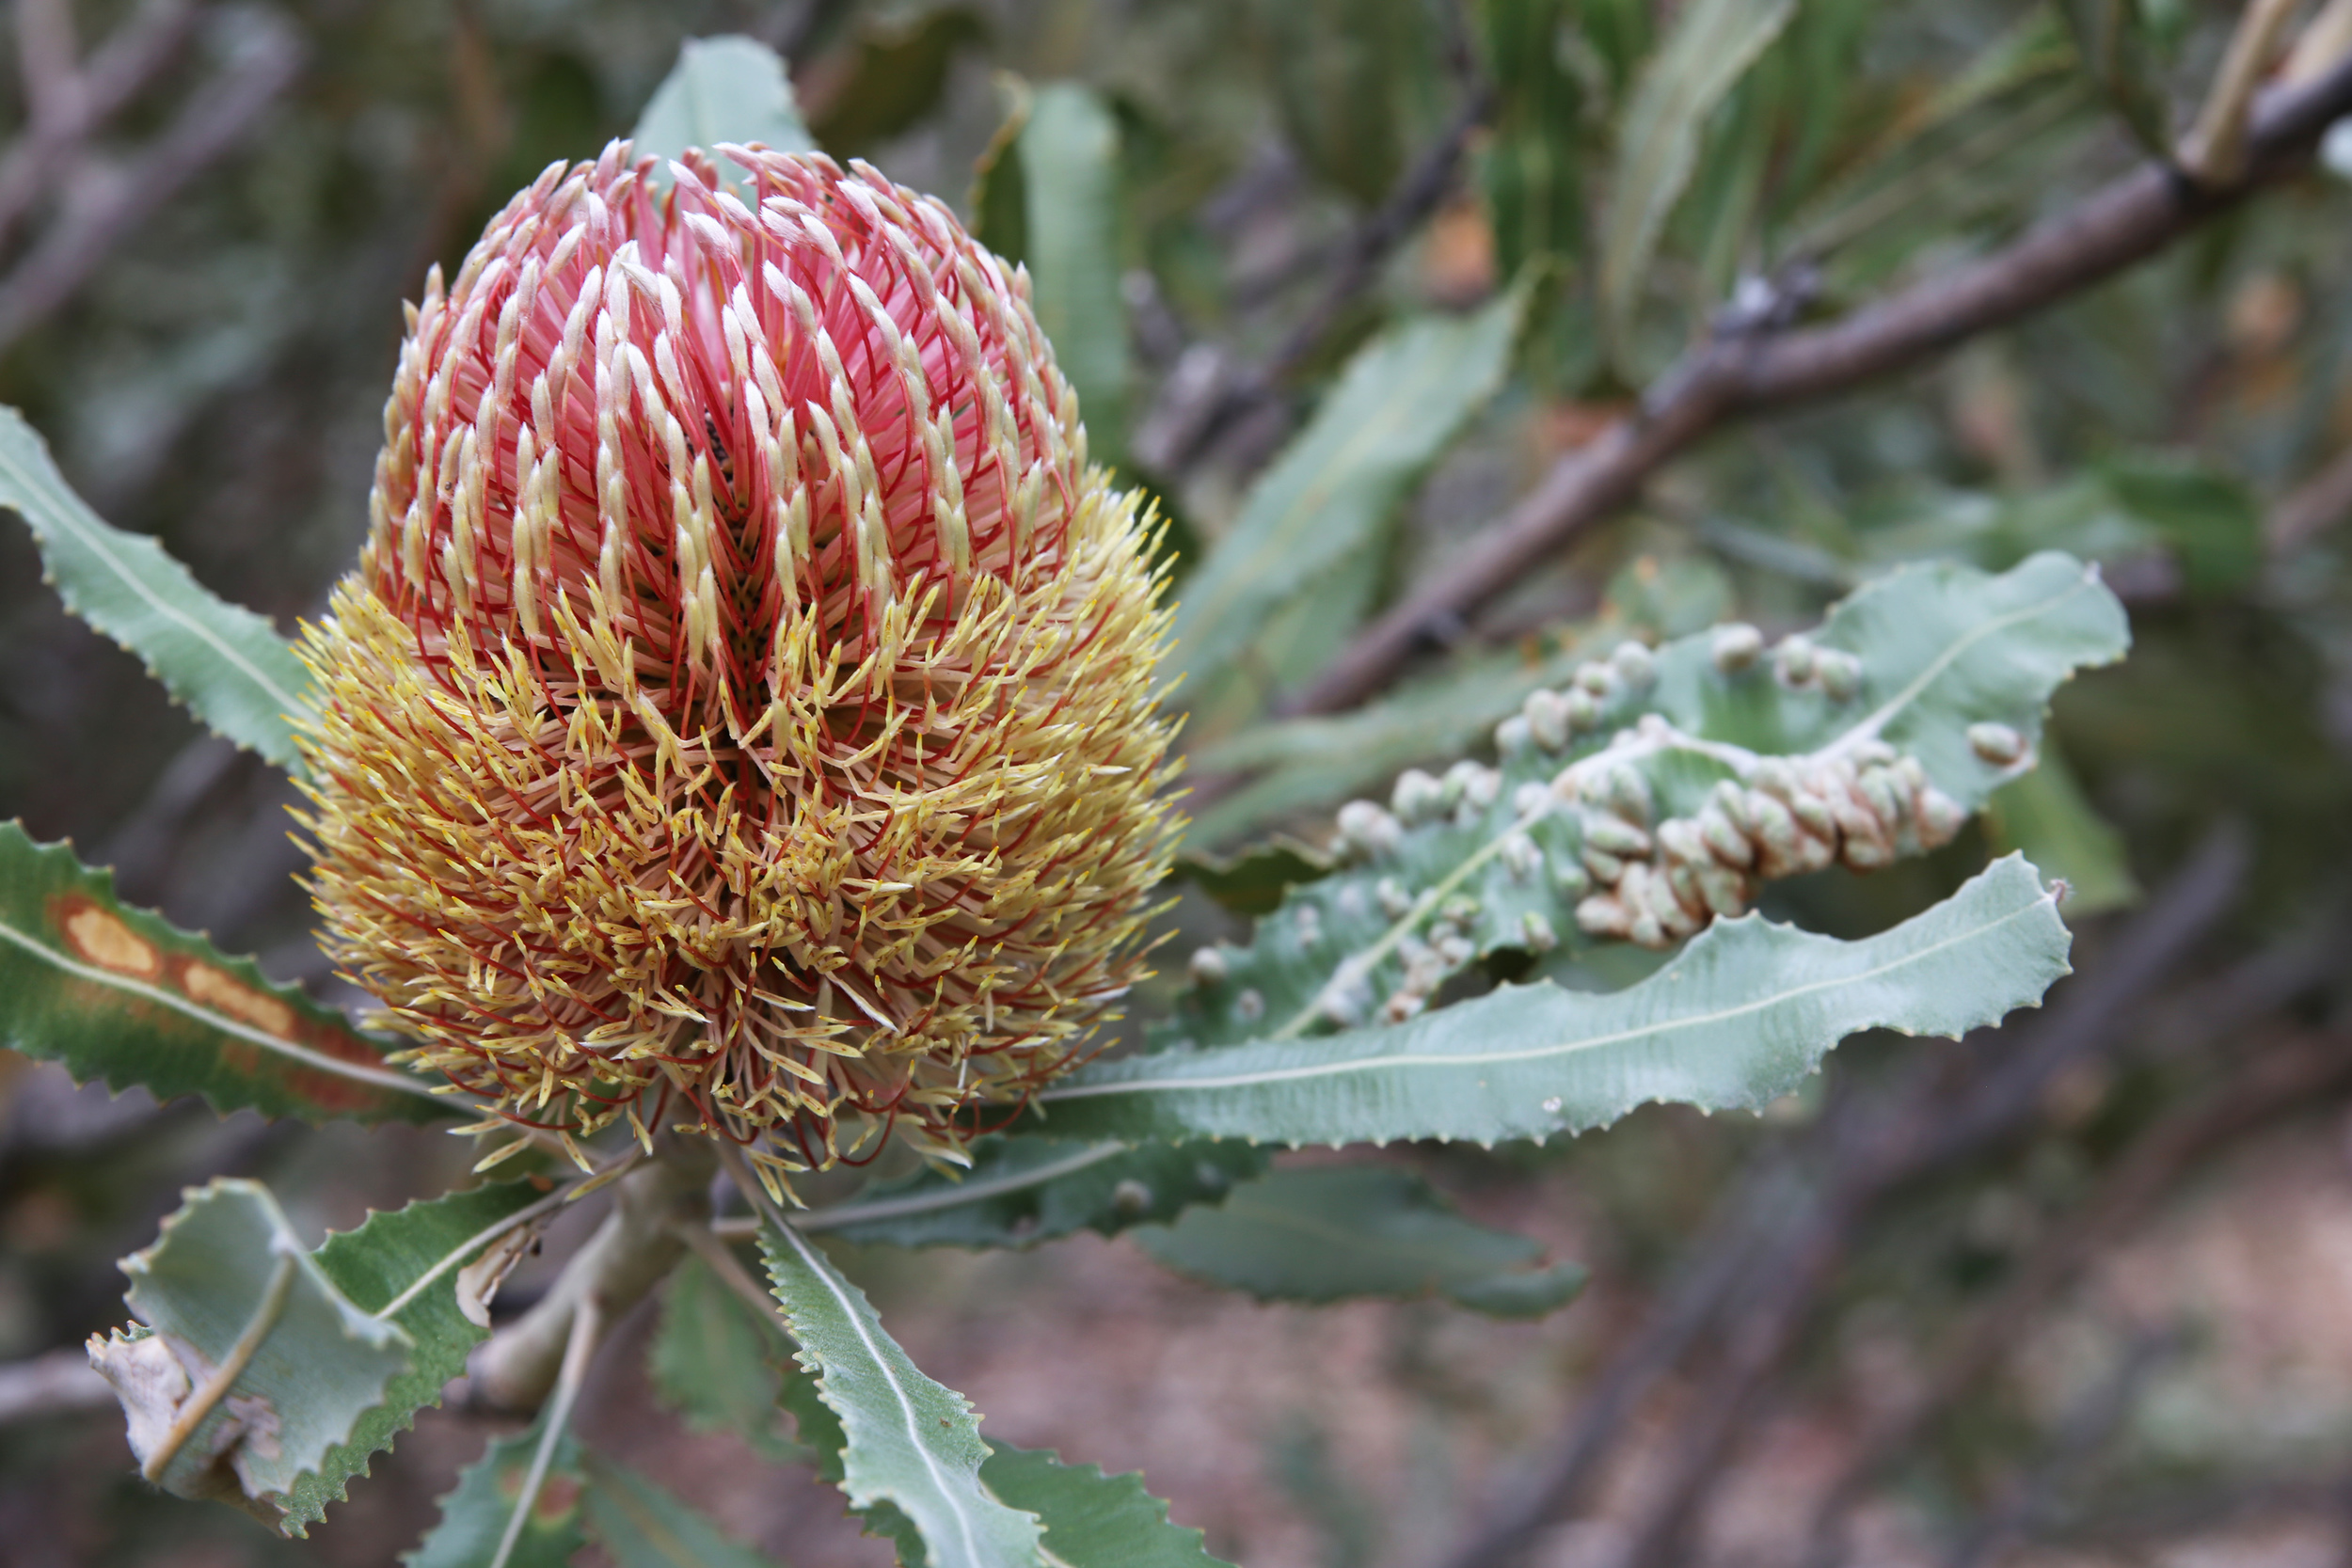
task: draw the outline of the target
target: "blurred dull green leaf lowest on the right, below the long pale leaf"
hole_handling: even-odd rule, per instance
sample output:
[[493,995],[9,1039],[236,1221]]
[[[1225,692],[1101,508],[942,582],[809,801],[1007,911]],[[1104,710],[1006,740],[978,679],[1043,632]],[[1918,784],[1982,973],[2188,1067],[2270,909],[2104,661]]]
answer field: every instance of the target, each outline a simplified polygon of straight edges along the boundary
[[1134,1239],[1178,1274],[1258,1300],[1446,1295],[1477,1312],[1541,1316],[1585,1284],[1573,1262],[1531,1269],[1541,1246],[1472,1225],[1437,1187],[1395,1166],[1270,1171],[1221,1206]]

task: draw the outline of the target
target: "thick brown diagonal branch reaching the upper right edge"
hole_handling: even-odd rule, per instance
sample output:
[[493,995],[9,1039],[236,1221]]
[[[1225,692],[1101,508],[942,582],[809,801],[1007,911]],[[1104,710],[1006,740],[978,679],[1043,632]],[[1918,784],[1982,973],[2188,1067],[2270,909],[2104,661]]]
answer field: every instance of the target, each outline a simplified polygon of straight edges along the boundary
[[2352,113],[2352,59],[2263,99],[2244,172],[2199,188],[2169,165],[2143,165],[2067,214],[1978,263],[1929,277],[1828,327],[1717,336],[1661,378],[1644,407],[1552,465],[1451,569],[1369,625],[1287,712],[1362,703],[1442,628],[1508,590],[1543,557],[1609,517],[1670,458],[1719,425],[1830,397],[1907,369],[1976,334],[2114,277],[2305,165],[2319,134]]

